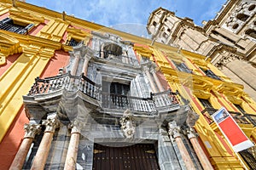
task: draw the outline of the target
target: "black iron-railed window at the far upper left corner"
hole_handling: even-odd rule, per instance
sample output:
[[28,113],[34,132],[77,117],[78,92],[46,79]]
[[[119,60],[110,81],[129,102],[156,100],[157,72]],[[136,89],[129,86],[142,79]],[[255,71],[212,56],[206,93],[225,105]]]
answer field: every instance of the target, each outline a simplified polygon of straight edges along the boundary
[[0,29],[5,31],[12,31],[18,34],[26,34],[29,30],[32,29],[34,25],[29,24],[27,26],[20,26],[14,23],[14,20],[10,18],[5,18],[0,21]]

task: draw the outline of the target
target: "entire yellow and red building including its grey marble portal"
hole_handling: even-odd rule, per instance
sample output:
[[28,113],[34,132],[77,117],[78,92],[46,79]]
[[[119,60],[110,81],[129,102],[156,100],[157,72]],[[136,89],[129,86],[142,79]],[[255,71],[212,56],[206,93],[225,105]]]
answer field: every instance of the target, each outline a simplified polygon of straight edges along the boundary
[[211,57],[0,1],[1,169],[244,169],[213,122],[256,141],[256,104]]

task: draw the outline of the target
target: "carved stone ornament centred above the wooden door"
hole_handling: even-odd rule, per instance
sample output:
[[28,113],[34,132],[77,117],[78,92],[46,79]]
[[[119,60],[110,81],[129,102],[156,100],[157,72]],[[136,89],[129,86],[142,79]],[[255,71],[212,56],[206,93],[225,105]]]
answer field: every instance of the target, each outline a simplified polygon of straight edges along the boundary
[[131,139],[135,133],[134,116],[131,111],[126,110],[124,115],[120,117],[120,125],[127,139]]

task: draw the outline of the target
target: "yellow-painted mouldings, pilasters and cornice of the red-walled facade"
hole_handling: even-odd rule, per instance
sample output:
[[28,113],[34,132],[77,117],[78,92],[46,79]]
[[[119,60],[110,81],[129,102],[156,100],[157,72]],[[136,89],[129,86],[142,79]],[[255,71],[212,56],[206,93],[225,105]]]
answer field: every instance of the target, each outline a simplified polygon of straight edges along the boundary
[[[216,124],[207,122],[206,116],[210,117],[210,115],[207,112],[202,113],[204,106],[199,99],[207,99],[214,109],[225,106],[228,111],[237,112],[234,104],[241,105],[246,113],[255,116],[256,103],[243,92],[240,84],[231,82],[229,77],[225,77],[221,71],[218,71],[210,63],[210,59],[206,60],[205,56],[200,54],[178,50],[159,42],[151,46],[149,39],[26,3],[16,2],[14,7],[11,1],[1,0],[0,15],[6,13],[9,13],[9,17],[17,24],[33,24],[34,27],[44,24],[44,26],[35,36],[0,30],[0,66],[6,63],[9,55],[20,54],[15,63],[0,77],[0,141],[8,132],[22,106],[22,95],[28,93],[34,79],[44,71],[55,51],[72,50],[65,44],[71,38],[84,40],[84,44],[87,44],[91,37],[90,31],[106,31],[123,37],[124,40],[135,42],[134,50],[138,56],[147,57],[159,66],[169,88],[180,94],[178,96],[180,102],[183,103],[183,99],[189,100],[194,111],[200,115],[195,130],[207,150],[212,165],[216,169],[243,169],[241,161],[225,141]],[[61,42],[65,34],[67,37]],[[194,74],[177,71],[177,68],[171,65],[172,60],[178,63],[183,62]],[[210,69],[221,80],[206,77],[199,67]],[[255,141],[256,127],[250,120],[247,122],[249,123],[241,122],[239,126],[248,138]]]

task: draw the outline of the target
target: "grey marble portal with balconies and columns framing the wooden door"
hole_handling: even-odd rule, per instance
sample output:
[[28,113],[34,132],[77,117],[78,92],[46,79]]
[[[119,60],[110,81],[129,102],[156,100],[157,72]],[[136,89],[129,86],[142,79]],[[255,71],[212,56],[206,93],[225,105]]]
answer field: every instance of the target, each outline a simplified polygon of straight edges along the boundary
[[[184,168],[186,160],[178,156],[185,149],[177,148],[183,142],[176,140],[169,145],[167,124],[177,121],[181,128],[190,127],[186,122],[189,105],[180,106],[175,94],[161,87],[154,69],[150,69],[154,68],[151,61],[137,62],[132,44],[114,35],[93,34],[90,48],[82,44],[74,47],[70,64],[59,75],[37,78],[24,96],[27,115],[38,123],[43,120],[45,130],[44,136],[36,137],[38,143],[23,168],[91,169],[93,154],[100,153],[93,152],[94,143],[113,147],[154,144],[160,169]],[[44,121],[52,115],[55,117]],[[197,119],[194,116],[193,121]],[[56,123],[49,127],[49,122]],[[201,169],[197,161],[190,163]]]

